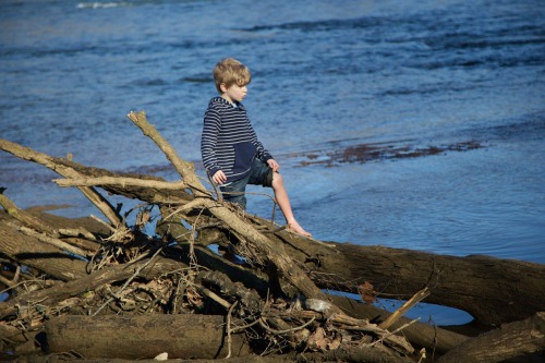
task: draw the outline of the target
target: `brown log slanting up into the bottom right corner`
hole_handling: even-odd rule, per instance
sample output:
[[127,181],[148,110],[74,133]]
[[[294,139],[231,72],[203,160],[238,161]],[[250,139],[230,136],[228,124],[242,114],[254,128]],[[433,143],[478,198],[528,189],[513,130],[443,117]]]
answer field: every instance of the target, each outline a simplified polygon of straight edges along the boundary
[[447,354],[440,363],[494,363],[524,354],[545,351],[545,312],[522,322],[502,325],[500,328],[467,340]]

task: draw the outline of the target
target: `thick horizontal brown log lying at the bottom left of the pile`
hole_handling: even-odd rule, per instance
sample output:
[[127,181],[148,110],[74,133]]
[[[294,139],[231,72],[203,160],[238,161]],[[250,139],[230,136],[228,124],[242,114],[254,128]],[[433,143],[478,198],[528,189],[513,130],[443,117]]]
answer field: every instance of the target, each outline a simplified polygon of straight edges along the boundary
[[[71,316],[46,324],[50,353],[74,351],[85,358],[214,359],[227,355],[225,317],[195,314]],[[231,354],[249,354],[244,336],[231,334]]]

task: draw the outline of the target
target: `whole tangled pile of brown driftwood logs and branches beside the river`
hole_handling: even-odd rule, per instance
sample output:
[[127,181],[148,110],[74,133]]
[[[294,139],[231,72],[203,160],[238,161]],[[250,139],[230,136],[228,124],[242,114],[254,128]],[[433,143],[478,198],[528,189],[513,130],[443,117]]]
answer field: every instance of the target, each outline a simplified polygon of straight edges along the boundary
[[[90,168],[0,140],[2,150],[62,176],[55,181],[80,189],[107,219],[22,210],[0,192],[0,360],[543,359],[545,266],[290,233],[221,203],[144,112],[129,119],[180,181]],[[141,205],[121,214],[97,186]],[[372,304],[383,297],[407,302],[388,313]],[[474,322],[455,329],[403,317],[423,299]]]

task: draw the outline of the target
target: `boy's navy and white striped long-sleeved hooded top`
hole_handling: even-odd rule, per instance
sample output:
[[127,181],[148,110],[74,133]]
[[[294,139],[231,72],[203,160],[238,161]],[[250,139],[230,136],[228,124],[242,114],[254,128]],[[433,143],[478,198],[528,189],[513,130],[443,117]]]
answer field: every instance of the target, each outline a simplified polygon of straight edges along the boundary
[[257,141],[244,106],[221,97],[210,99],[205,112],[201,154],[208,174],[222,170],[227,183],[246,177],[256,157],[263,162],[272,159]]

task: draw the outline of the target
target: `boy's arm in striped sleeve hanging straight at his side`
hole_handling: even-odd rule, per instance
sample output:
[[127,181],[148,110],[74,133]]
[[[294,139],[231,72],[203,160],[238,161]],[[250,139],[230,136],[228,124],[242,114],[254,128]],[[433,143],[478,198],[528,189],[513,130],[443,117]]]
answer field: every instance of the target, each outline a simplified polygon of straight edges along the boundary
[[203,134],[201,136],[201,156],[206,171],[214,179],[216,173],[220,171],[216,158],[216,143],[218,141],[221,118],[214,109],[206,110]]

